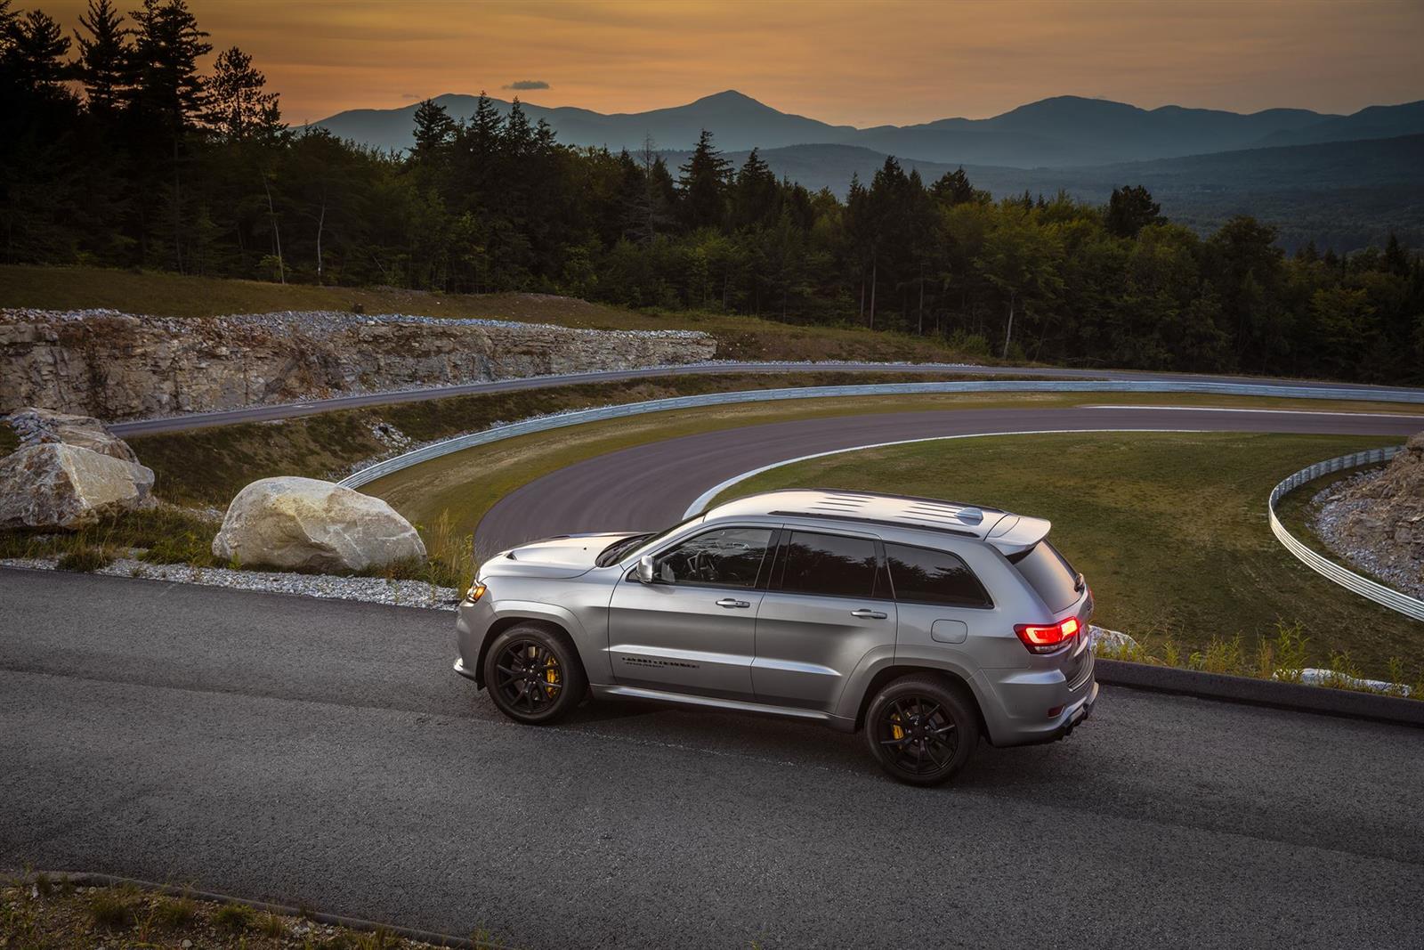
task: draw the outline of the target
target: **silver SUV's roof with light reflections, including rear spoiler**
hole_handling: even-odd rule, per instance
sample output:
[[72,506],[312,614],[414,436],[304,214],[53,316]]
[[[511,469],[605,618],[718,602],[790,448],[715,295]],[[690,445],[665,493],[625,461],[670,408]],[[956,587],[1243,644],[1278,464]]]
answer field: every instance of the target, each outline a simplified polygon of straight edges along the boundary
[[943,531],[990,541],[1005,553],[1037,544],[1051,527],[1044,518],[1022,517],[987,506],[834,489],[783,489],[749,494],[709,510],[706,520],[748,516],[860,521]]

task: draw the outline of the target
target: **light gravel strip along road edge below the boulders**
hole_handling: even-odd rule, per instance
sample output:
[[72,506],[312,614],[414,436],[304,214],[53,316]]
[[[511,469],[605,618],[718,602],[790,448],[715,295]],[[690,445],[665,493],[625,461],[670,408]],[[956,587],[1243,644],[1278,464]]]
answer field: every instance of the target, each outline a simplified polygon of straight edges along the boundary
[[[0,567],[56,570],[57,558],[0,558]],[[189,567],[187,564],[148,564],[121,557],[108,567],[94,571],[112,577],[141,577],[178,584],[229,587],[241,591],[268,591],[322,597],[326,600],[366,601],[394,607],[423,607],[454,610],[460,591],[453,587],[433,587],[424,581],[389,581],[383,577],[333,577],[330,574],[292,574],[286,571],[235,571],[226,567]]]

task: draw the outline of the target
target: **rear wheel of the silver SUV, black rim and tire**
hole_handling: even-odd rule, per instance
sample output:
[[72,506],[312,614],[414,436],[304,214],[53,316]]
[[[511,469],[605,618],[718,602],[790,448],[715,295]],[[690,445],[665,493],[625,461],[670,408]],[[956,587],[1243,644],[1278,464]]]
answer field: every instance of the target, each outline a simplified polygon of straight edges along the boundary
[[940,677],[901,677],[886,684],[866,711],[866,741],[891,778],[941,785],[974,755],[978,711]]

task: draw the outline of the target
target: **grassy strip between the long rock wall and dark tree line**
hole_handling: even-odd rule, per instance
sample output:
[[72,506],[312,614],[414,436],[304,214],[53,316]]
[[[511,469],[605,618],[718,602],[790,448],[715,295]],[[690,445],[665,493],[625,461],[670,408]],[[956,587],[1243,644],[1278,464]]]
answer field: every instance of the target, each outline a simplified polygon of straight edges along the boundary
[[328,288],[197,278],[177,273],[0,265],[0,308],[110,308],[157,316],[219,316],[272,310],[350,310],[478,316],[592,329],[691,329],[718,340],[718,359],[991,362],[934,338],[857,328],[793,326],[753,316],[655,313],[543,293],[433,293],[396,288]]

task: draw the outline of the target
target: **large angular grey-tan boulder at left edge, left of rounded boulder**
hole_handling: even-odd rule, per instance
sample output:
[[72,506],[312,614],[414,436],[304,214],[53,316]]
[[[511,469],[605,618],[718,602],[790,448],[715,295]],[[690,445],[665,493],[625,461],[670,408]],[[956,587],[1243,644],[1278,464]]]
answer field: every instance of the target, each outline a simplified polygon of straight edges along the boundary
[[81,528],[151,504],[154,473],[93,449],[48,442],[0,459],[0,528]]

